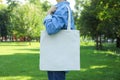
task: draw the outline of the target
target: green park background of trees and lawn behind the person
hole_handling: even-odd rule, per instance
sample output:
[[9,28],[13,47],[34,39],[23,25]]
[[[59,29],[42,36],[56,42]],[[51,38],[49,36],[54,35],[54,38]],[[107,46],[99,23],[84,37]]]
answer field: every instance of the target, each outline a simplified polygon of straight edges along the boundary
[[[40,71],[40,31],[51,4],[0,0],[0,80],[48,80]],[[75,0],[80,71],[66,80],[120,80],[120,1]]]

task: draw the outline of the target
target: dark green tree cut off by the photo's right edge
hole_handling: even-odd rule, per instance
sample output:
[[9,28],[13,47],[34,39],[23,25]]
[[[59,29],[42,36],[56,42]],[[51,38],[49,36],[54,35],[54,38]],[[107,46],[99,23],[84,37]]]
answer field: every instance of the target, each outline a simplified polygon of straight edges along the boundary
[[117,39],[116,46],[120,48],[120,1],[119,0],[101,0],[100,6],[104,7],[101,9],[99,18],[101,19],[103,25],[106,27],[104,35],[108,38]]

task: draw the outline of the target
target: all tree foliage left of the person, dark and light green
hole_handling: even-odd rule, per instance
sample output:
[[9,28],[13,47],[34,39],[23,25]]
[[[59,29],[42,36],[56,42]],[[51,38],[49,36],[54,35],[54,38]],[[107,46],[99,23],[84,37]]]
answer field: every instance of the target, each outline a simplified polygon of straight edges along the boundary
[[49,5],[44,7],[45,3],[39,0],[28,0],[25,4],[7,0],[7,4],[8,6],[0,9],[0,36],[39,38]]

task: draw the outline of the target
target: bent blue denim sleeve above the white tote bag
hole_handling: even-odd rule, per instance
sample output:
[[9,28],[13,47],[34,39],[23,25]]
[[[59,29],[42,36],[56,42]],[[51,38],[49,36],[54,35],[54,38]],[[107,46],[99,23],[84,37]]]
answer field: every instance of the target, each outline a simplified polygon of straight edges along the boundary
[[44,25],[49,35],[55,34],[63,28],[67,20],[67,9],[56,10],[53,15],[47,15],[44,19]]

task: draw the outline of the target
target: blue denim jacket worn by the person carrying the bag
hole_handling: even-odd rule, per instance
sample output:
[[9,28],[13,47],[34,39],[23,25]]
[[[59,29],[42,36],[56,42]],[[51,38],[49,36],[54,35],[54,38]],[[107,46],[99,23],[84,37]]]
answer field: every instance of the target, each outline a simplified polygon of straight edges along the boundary
[[[55,6],[57,10],[52,15],[47,15],[44,19],[44,25],[49,35],[55,34],[61,29],[67,29],[68,24],[68,9],[69,2],[63,1],[57,3]],[[74,19],[71,12],[71,29],[75,29]]]

